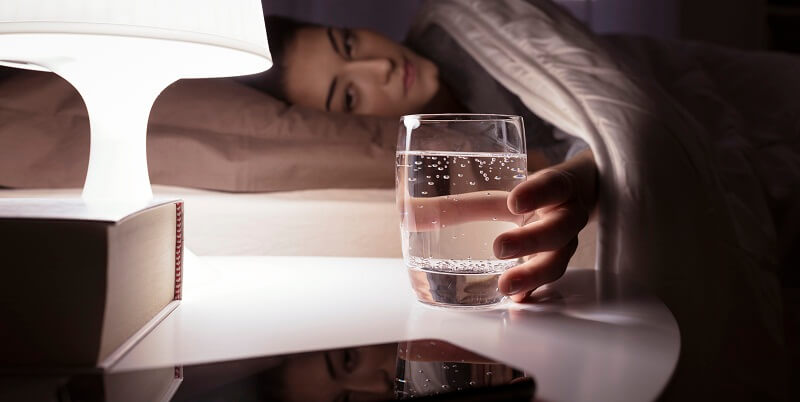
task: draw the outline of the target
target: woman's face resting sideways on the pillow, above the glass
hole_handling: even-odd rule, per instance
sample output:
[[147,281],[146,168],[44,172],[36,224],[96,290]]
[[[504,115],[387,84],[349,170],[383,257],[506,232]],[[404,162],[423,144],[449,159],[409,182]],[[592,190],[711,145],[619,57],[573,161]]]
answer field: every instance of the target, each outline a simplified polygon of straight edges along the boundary
[[365,29],[301,29],[285,64],[288,100],[321,110],[399,117],[439,90],[436,65]]

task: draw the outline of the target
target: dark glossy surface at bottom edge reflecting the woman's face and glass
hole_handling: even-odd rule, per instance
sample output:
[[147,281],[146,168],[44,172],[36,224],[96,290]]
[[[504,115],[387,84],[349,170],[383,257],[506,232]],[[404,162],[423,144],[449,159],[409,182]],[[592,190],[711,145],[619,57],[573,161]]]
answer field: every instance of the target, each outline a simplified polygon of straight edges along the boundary
[[118,373],[0,377],[3,401],[531,401],[534,391],[521,370],[436,339]]

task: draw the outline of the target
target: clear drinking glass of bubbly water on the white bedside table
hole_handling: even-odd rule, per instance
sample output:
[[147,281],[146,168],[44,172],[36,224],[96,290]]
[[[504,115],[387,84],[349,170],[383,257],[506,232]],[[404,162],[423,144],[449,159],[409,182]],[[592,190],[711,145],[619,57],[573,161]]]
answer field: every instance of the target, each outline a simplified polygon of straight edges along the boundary
[[494,239],[518,227],[508,193],[527,177],[522,117],[427,114],[400,121],[396,159],[403,259],[417,298],[449,307],[503,300]]

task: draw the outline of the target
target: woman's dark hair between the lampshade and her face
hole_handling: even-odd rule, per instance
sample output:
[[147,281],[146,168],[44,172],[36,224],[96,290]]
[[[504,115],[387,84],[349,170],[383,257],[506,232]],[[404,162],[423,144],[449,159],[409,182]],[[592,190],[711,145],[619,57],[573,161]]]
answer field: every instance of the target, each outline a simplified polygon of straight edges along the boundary
[[288,102],[286,96],[286,51],[304,28],[319,27],[318,24],[269,15],[264,17],[267,41],[272,55],[272,68],[262,73],[239,78],[239,81],[264,91],[273,97]]

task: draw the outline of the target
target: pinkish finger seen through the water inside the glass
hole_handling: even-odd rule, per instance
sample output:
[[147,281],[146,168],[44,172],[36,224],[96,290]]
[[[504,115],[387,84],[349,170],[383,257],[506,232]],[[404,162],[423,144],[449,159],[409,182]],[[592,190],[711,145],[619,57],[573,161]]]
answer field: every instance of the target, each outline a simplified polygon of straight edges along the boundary
[[507,191],[478,191],[440,197],[407,197],[400,200],[405,215],[404,227],[412,232],[426,232],[444,226],[475,221],[506,221],[520,224],[507,205]]

